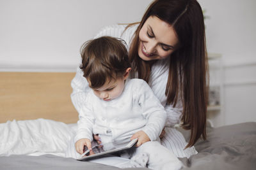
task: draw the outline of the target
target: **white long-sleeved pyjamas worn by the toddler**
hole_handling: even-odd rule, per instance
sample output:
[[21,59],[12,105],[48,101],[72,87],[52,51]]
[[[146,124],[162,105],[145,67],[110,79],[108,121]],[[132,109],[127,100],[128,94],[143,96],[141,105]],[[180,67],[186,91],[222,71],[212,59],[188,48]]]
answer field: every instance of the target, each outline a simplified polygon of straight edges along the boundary
[[123,143],[130,141],[134,133],[144,131],[150,141],[136,148],[131,159],[134,160],[136,156],[147,153],[150,169],[167,170],[170,167],[180,169],[182,167],[180,160],[156,141],[159,139],[165,120],[166,112],[148,84],[140,79],[127,79],[122,94],[111,101],[100,99],[93,94],[92,89],[88,89],[85,104],[79,111],[78,129],[74,141],[82,138],[92,141],[93,132],[99,134],[102,143],[114,140]]

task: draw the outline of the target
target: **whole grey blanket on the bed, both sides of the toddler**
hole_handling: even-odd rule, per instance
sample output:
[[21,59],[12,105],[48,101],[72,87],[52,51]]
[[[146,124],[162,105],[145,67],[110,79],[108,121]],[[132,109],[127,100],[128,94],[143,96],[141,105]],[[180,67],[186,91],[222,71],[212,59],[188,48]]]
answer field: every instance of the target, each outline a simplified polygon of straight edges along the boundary
[[[188,131],[181,131],[186,139]],[[189,159],[182,158],[186,167],[193,169],[256,169],[256,122],[207,128],[207,140],[195,144],[199,152]],[[80,162],[54,155],[40,157],[13,155],[0,157],[0,169],[119,169],[92,162]],[[129,170],[136,169],[130,168]],[[138,168],[139,169],[139,168]],[[143,169],[143,168],[142,168]],[[140,170],[142,170],[140,168]],[[146,168],[144,168],[146,169]]]

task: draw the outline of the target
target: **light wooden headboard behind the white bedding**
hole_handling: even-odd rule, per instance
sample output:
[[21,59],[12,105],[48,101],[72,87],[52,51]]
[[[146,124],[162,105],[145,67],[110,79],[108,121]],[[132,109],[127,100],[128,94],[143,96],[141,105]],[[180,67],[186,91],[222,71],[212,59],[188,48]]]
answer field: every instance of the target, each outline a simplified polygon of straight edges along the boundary
[[36,118],[76,123],[70,99],[75,74],[0,72],[0,123]]

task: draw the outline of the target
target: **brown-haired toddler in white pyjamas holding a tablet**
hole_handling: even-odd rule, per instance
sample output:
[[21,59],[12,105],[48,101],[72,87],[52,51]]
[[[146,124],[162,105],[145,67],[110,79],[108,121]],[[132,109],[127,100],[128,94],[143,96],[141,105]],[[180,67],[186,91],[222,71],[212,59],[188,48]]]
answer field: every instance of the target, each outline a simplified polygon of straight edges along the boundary
[[90,90],[79,111],[77,153],[82,154],[84,146],[91,149],[93,134],[102,143],[120,145],[138,138],[129,155],[134,167],[180,169],[180,160],[159,143],[166,120],[163,106],[144,80],[129,79],[131,64],[124,41],[107,36],[87,41],[81,57]]

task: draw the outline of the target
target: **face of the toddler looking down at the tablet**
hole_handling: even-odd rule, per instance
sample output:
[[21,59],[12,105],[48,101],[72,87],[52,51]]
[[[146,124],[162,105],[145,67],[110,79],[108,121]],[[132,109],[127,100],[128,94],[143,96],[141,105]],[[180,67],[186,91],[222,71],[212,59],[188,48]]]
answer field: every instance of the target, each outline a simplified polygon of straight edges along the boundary
[[124,90],[124,83],[124,78],[106,81],[106,83],[99,89],[93,89],[93,92],[100,99],[103,99],[104,101],[111,101],[122,94]]

